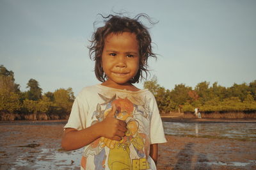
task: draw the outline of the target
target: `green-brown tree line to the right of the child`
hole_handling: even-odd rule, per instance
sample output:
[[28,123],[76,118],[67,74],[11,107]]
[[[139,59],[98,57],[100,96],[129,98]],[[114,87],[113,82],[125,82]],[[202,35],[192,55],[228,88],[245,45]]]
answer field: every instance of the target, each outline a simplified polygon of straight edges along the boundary
[[214,82],[199,82],[195,88],[185,84],[177,84],[173,89],[165,89],[153,77],[144,83],[156,97],[161,113],[194,112],[195,107],[200,111],[211,112],[256,112],[256,80],[249,84],[236,84],[226,88]]

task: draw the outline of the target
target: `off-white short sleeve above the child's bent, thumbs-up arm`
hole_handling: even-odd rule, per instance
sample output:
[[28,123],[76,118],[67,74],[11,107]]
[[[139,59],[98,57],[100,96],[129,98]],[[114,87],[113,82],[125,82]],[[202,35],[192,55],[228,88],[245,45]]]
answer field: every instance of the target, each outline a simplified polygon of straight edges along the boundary
[[68,122],[64,128],[76,128],[82,130],[86,128],[86,117],[88,114],[88,104],[82,95],[78,95],[68,118]]

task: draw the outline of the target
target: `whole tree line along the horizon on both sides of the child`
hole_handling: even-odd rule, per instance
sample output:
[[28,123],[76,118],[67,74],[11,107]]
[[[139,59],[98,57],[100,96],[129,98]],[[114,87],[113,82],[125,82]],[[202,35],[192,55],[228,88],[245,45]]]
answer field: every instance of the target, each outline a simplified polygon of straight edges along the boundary
[[[38,81],[30,79],[27,91],[20,91],[15,83],[14,73],[0,66],[0,120],[59,120],[67,119],[74,93],[72,88],[56,89],[42,94]],[[256,112],[256,80],[249,84],[236,84],[226,88],[214,82],[200,82],[195,88],[177,84],[173,89],[165,89],[154,76],[144,82],[156,97],[160,113],[194,112]]]

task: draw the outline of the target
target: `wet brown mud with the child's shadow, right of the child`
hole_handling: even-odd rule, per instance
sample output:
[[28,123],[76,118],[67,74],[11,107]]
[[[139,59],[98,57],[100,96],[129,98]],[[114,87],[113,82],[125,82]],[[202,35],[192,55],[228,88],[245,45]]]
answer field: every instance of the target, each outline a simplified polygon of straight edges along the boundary
[[[256,169],[255,141],[166,138],[168,143],[159,144],[158,169]],[[234,166],[234,162],[250,164]]]

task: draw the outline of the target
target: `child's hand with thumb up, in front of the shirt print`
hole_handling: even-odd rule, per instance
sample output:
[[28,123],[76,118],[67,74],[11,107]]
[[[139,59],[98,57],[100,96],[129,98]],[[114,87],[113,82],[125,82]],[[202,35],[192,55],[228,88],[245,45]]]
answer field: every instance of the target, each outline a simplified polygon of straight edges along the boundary
[[115,118],[116,105],[113,105],[111,111],[101,122],[102,136],[115,141],[120,141],[127,131],[125,121]]

